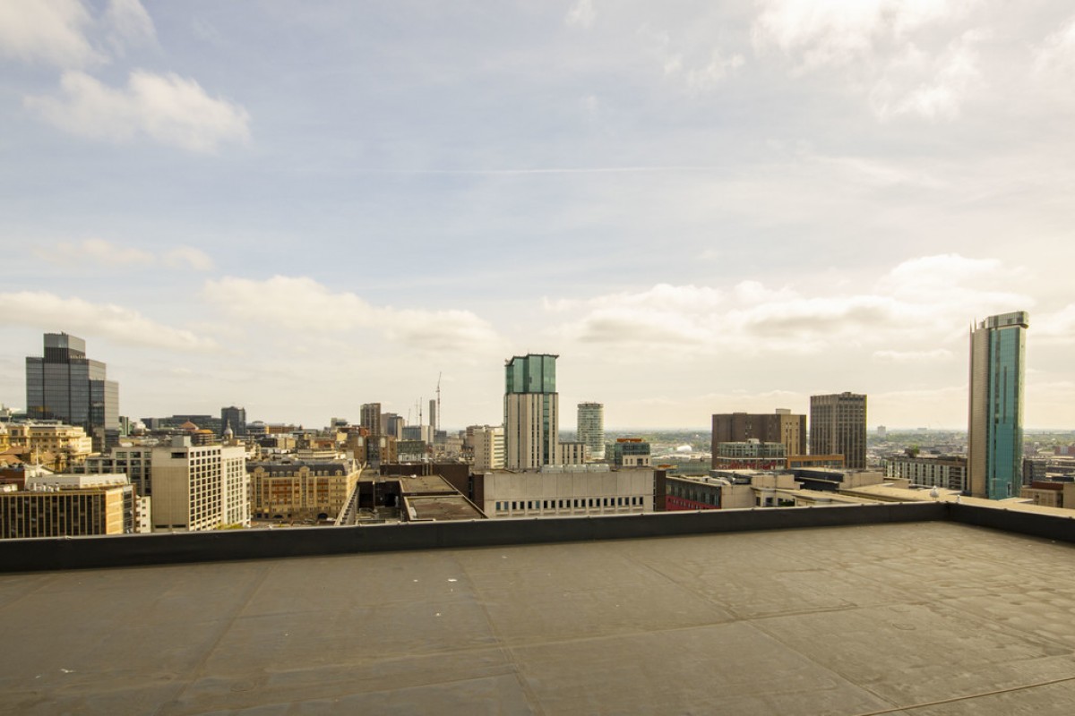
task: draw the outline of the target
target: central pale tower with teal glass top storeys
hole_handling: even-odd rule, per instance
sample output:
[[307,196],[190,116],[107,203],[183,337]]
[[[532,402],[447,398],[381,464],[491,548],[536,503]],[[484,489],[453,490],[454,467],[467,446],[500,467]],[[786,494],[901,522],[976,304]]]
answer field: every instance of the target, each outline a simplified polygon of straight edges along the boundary
[[528,353],[504,366],[504,465],[510,470],[561,464],[557,357]]

